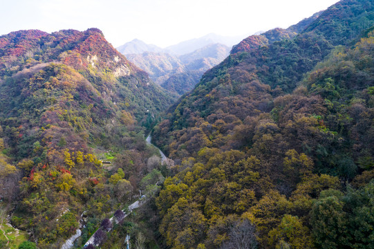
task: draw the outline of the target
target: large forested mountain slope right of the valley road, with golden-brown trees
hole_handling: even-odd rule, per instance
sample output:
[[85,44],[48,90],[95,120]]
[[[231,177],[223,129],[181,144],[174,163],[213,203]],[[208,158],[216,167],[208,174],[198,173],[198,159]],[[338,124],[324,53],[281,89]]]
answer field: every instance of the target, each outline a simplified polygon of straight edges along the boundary
[[373,14],[343,0],[247,37],[169,109],[167,246],[373,247]]

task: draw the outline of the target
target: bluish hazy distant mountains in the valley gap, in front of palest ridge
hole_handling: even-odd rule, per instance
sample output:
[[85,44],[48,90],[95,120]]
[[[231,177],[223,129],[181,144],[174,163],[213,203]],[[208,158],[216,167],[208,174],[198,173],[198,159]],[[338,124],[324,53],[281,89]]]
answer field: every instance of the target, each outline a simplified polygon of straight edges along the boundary
[[144,52],[126,57],[149,73],[151,79],[168,91],[183,93],[190,91],[208,69],[222,62],[229,54],[223,44],[209,44],[185,55]]

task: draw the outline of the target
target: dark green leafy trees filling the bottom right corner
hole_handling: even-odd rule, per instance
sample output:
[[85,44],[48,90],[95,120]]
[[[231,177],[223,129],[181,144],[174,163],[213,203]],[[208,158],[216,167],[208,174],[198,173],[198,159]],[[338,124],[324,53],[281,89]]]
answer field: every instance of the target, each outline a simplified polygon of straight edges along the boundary
[[373,182],[346,194],[321,192],[310,212],[312,234],[319,248],[371,248],[373,244]]

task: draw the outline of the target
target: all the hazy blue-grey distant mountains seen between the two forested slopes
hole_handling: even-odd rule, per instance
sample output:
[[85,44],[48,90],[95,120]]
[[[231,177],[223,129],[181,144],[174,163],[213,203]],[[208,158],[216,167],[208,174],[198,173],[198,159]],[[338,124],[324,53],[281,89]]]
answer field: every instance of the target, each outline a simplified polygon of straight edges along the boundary
[[149,73],[156,84],[182,95],[198,83],[205,71],[227,57],[231,46],[240,40],[209,34],[162,49],[134,39],[117,49]]

